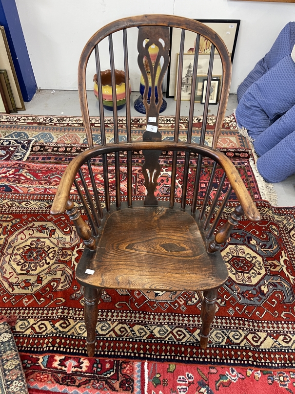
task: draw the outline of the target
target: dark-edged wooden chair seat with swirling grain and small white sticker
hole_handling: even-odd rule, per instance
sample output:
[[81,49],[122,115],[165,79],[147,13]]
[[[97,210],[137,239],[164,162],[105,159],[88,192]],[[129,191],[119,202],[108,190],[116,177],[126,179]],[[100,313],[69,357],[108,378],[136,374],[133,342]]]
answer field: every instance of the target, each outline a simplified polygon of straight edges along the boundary
[[217,288],[228,270],[220,252],[207,252],[207,243],[194,217],[184,211],[121,209],[106,219],[97,249],[84,249],[76,278],[81,285],[100,288]]

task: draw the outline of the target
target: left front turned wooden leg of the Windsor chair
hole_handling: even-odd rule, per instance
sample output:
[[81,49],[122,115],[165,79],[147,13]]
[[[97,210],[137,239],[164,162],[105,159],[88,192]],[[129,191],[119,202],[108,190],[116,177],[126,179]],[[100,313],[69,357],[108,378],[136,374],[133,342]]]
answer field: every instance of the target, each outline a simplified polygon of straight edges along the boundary
[[98,321],[98,300],[101,293],[102,289],[95,289],[91,287],[84,288],[84,321],[87,332],[87,354],[89,357],[93,357],[95,352],[95,330]]

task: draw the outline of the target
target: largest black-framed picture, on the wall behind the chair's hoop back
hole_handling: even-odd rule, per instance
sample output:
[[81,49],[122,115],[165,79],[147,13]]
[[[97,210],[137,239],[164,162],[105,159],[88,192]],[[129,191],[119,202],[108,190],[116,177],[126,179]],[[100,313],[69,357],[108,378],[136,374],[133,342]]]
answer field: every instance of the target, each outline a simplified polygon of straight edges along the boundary
[[[236,49],[236,41],[238,30],[240,26],[240,20],[237,19],[197,19],[196,21],[202,22],[207,26],[211,27],[216,33],[222,38],[226,47],[231,55],[231,59],[233,62],[235,49]],[[192,59],[194,59],[195,54],[195,41],[196,41],[196,33],[186,30],[185,32],[185,40],[184,40],[184,52],[185,54],[191,54]],[[181,29],[178,28],[170,28],[170,64],[168,66],[167,71],[167,89],[166,89],[166,97],[171,98],[175,96],[175,85],[176,85],[176,70],[178,65],[177,53],[179,53],[180,46],[180,38],[181,38]],[[199,45],[199,60],[198,63],[201,62],[203,66],[206,65],[205,59],[207,56],[207,69],[202,75],[207,75],[208,65],[209,65],[209,56],[210,56],[211,44],[204,37],[200,37],[200,45]],[[217,51],[215,52],[216,56]],[[219,58],[220,61],[220,58]],[[215,63],[215,62],[214,62]],[[221,61],[220,61],[221,64]],[[201,74],[201,71],[198,67],[198,73]],[[221,72],[214,71],[215,75],[222,75]]]

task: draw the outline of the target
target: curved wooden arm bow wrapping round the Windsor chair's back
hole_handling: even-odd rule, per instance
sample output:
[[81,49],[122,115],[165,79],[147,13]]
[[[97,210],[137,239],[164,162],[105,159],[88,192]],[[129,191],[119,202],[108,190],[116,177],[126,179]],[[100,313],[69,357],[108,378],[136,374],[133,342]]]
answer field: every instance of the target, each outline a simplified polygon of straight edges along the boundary
[[252,198],[249,195],[240,175],[238,174],[236,167],[224,153],[205,146],[199,146],[194,143],[187,144],[185,142],[170,141],[121,142],[118,144],[109,143],[104,146],[97,145],[92,149],[87,149],[86,151],[80,153],[71,161],[61,178],[59,188],[51,208],[51,214],[57,215],[64,212],[75,176],[78,173],[79,168],[88,160],[105,153],[138,150],[162,150],[200,153],[203,156],[207,156],[215,160],[225,171],[236,193],[236,197],[243,208],[244,214],[251,221],[260,220],[260,215],[257,211],[256,205],[252,201]]

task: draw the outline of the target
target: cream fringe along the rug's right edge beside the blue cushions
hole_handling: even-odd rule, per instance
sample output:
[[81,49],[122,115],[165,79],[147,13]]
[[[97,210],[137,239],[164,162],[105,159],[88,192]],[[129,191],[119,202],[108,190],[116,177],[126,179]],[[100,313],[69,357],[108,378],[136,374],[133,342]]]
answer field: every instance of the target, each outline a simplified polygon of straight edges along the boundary
[[[236,109],[234,109],[234,116],[236,118]],[[236,123],[236,125],[237,125],[237,123]],[[240,129],[237,125],[237,130],[243,137],[247,138],[247,141],[249,142],[251,151],[253,153],[254,158],[251,157],[249,159],[249,162],[250,162],[252,171],[254,172],[254,175],[256,177],[256,181],[257,181],[257,185],[258,185],[261,197],[264,200],[269,201],[271,205],[277,207],[278,200],[277,200],[277,194],[275,192],[274,185],[272,183],[266,182],[263,179],[263,177],[259,174],[259,171],[257,170],[256,163],[257,163],[258,156],[255,152],[254,145],[253,145],[254,139],[248,135],[248,130],[245,129],[244,127],[242,127]]]

